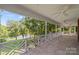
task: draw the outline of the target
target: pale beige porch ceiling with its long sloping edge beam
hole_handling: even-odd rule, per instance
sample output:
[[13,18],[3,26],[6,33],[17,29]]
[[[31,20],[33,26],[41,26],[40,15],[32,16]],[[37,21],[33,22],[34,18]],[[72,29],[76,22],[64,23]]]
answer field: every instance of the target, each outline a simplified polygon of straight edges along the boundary
[[77,4],[0,5],[0,8],[20,13],[25,16],[44,19],[63,26],[76,26],[79,17],[79,5]]

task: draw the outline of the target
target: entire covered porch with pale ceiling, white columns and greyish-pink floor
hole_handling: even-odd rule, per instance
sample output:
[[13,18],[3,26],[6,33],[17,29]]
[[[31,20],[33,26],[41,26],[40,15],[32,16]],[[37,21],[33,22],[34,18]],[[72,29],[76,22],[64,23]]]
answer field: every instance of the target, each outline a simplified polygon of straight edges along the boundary
[[[24,4],[0,5],[0,8],[44,21],[44,35],[36,38],[37,47],[28,48],[25,40],[15,55],[79,54],[79,5]],[[48,23],[55,24],[55,32],[48,31]]]

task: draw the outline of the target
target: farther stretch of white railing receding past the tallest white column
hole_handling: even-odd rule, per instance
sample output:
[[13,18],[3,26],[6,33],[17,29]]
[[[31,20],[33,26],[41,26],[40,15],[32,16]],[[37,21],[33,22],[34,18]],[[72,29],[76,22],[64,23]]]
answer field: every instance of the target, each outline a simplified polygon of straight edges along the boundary
[[49,34],[47,34],[46,37],[45,37],[45,35],[40,35],[40,36],[38,36],[38,38],[36,38],[38,40],[37,45],[39,46],[40,43],[43,43],[45,41],[59,39],[60,36],[62,36],[61,32],[49,33]]

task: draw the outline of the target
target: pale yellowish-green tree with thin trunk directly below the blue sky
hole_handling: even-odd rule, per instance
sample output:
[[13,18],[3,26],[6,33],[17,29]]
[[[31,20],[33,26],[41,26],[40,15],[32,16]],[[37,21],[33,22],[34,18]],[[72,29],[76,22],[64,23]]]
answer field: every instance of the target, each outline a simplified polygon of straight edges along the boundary
[[18,24],[18,21],[14,21],[14,20],[11,20],[11,21],[8,21],[7,23],[7,26],[8,26],[8,29],[9,29],[9,36],[10,37],[15,37],[16,40],[17,40],[17,36],[19,35],[19,24]]

